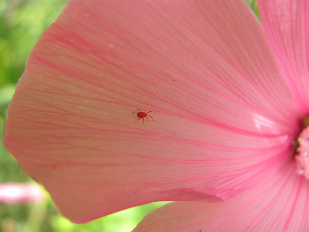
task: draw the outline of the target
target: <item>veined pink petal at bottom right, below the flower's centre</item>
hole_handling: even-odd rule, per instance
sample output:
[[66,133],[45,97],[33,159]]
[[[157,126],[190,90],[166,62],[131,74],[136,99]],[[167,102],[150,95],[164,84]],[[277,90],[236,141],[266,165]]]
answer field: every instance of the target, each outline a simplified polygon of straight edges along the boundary
[[308,231],[308,189],[291,159],[235,198],[208,204],[173,202],[146,215],[133,231]]

